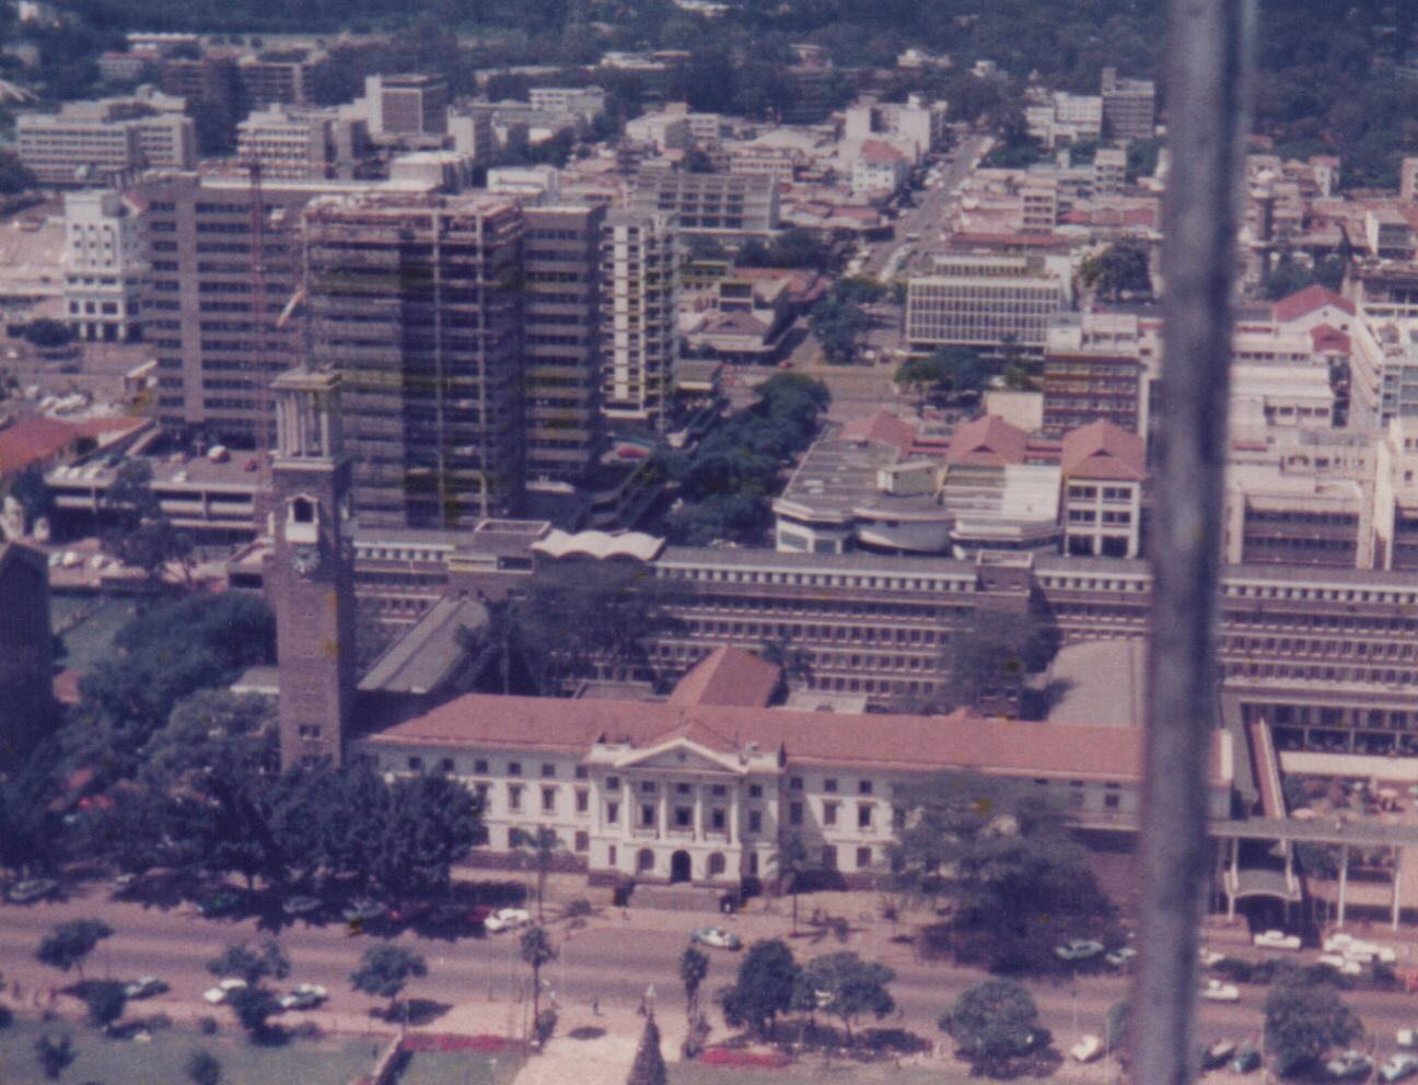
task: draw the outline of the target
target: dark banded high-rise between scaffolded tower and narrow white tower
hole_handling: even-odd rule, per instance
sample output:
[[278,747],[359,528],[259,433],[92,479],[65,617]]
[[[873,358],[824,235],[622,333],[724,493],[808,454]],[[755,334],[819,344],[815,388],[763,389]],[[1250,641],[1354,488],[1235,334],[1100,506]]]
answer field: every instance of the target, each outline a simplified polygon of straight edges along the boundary
[[604,207],[526,208],[523,349],[529,481],[584,478],[601,445]]

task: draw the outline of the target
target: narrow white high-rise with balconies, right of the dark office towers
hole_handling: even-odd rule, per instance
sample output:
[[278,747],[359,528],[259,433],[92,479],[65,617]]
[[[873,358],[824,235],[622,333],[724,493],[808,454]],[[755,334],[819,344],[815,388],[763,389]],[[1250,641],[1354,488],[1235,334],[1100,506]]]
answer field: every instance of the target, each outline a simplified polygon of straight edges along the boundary
[[601,230],[601,403],[611,425],[659,430],[671,366],[679,245],[666,211],[613,211]]

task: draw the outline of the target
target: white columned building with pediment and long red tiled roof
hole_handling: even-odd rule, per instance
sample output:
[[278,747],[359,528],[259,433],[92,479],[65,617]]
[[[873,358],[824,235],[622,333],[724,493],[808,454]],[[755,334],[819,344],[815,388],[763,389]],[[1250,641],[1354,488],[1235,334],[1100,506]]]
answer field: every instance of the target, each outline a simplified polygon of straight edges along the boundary
[[[469,694],[356,739],[387,776],[441,773],[482,803],[488,864],[550,828],[594,881],[730,888],[771,878],[783,841],[869,885],[888,869],[906,789],[940,770],[1037,787],[1082,827],[1136,828],[1143,733],[949,716],[773,708],[777,667],[722,647],[668,699]],[[1215,732],[1212,818],[1231,810],[1231,736]]]

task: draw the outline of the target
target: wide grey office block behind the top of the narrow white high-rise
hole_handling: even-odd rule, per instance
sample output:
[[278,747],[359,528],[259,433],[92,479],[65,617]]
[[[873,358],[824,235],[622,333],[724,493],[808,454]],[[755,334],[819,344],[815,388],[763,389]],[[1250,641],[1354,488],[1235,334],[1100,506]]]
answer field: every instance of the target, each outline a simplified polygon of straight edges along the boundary
[[778,228],[778,183],[766,174],[681,173],[642,169],[630,210],[674,214],[685,234],[747,241]]

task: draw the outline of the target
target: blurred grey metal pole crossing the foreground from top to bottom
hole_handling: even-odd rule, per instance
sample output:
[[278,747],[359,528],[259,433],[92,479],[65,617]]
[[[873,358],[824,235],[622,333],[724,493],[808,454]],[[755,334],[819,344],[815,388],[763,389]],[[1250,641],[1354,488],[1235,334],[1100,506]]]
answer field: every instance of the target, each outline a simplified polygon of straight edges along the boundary
[[1248,0],[1171,3],[1146,889],[1133,990],[1134,1079],[1147,1085],[1183,1085],[1193,1057],[1249,10]]

